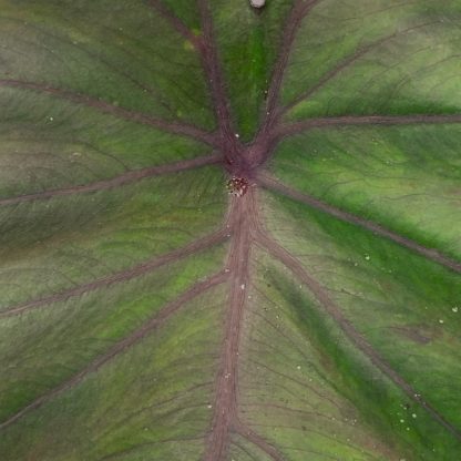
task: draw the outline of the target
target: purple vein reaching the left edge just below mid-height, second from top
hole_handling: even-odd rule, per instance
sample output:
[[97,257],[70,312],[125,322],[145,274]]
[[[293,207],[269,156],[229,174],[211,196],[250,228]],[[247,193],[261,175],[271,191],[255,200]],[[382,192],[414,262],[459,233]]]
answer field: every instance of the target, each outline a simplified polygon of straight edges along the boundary
[[148,168],[130,171],[121,174],[120,176],[111,180],[98,181],[91,184],[57,188],[52,191],[38,192],[35,194],[19,195],[17,197],[0,198],[0,206],[2,205],[17,205],[22,202],[31,202],[37,199],[45,199],[53,197],[61,197],[65,195],[83,194],[88,192],[98,192],[121,186],[129,183],[134,183],[147,177],[160,176],[168,173],[177,173],[187,170],[197,168],[205,165],[212,165],[222,162],[219,154],[201,156],[192,160],[183,160],[180,162],[151,166]]

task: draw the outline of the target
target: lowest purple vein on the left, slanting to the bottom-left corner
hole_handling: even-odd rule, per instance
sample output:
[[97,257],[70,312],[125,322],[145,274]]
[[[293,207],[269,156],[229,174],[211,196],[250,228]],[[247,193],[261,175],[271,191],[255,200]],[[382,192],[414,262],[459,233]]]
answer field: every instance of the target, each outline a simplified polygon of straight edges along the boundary
[[103,365],[107,361],[112,360],[115,356],[123,352],[131,346],[139,342],[143,339],[147,334],[150,334],[153,329],[158,328],[165,320],[167,320],[172,315],[177,313],[184,305],[196,298],[197,296],[202,295],[203,293],[207,291],[212,287],[224,283],[227,279],[227,274],[218,273],[205,281],[199,281],[195,284],[193,287],[184,291],[181,296],[178,296],[175,300],[168,303],[164,308],[156,314],[153,318],[151,318],[147,322],[145,322],[142,327],[137,330],[133,331],[130,336],[122,339],[121,341],[116,342],[112,346],[104,355],[98,357],[93,360],[86,368],[79,371],[72,378],[66,380],[65,382],[61,383],[60,386],[51,389],[49,392],[44,393],[43,396],[35,399],[32,403],[24,407],[18,413],[13,414],[7,421],[0,423],[0,429],[4,429],[8,426],[11,426],[22,416],[28,413],[31,410],[34,410],[42,406],[44,402],[49,401],[57,395],[63,392],[64,390],[75,386],[82,379],[84,379],[88,375],[98,371]]

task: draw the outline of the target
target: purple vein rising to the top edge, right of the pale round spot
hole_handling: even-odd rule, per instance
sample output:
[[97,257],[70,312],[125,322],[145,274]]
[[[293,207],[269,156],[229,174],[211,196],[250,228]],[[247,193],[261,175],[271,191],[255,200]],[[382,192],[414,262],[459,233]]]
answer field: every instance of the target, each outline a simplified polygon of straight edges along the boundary
[[266,119],[263,122],[260,135],[270,130],[277,119],[276,109],[280,95],[281,82],[287,69],[288,59],[296,38],[296,33],[307,13],[315,7],[316,3],[318,3],[318,1],[319,0],[296,0],[291,9],[287,24],[281,35],[283,41],[278,53],[278,60],[274,66],[272,82],[267,93]]

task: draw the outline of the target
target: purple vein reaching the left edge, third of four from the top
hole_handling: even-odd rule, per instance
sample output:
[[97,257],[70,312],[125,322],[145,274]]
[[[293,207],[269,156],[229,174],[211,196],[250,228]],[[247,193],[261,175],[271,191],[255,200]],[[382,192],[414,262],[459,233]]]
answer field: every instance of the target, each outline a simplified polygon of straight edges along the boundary
[[44,298],[30,300],[18,306],[14,306],[8,310],[0,311],[0,318],[2,317],[10,317],[16,316],[19,314],[23,314],[31,309],[37,309],[39,307],[49,306],[53,303],[64,301],[69,298],[74,298],[76,296],[81,296],[89,291],[94,291],[102,287],[106,287],[117,283],[124,283],[132,280],[133,278],[140,277],[144,274],[147,274],[161,266],[164,266],[170,263],[174,263],[178,259],[185,258],[191,256],[197,252],[201,252],[206,248],[211,248],[212,246],[219,244],[225,240],[226,232],[221,229],[214,234],[211,234],[204,238],[197,239],[192,244],[184,246],[183,248],[175,249],[171,253],[165,255],[152,258],[151,260],[134,266],[126,270],[121,270],[116,274],[110,275],[104,278],[100,278],[98,280],[91,281],[89,284],[79,285],[74,288],[66,289],[61,293],[57,293],[51,296],[47,296]]

